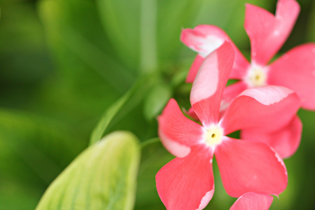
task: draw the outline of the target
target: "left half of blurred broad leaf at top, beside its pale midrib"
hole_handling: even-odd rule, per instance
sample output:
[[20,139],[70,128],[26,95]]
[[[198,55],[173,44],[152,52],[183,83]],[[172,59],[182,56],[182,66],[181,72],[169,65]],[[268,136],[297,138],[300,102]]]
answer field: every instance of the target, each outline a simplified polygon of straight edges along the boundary
[[127,66],[139,66],[140,0],[98,0],[103,27],[120,59]]

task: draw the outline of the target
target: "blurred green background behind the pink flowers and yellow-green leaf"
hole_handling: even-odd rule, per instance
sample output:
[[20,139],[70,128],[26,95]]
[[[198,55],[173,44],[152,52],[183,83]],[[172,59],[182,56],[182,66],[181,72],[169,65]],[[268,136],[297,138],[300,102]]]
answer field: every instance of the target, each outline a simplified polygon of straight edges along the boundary
[[[189,108],[186,73],[195,52],[181,29],[218,25],[248,57],[244,4],[274,13],[266,0],[1,0],[0,209],[34,209],[45,189],[89,144],[104,111],[131,95],[106,134],[130,130],[157,137],[156,116],[170,97]],[[279,52],[315,41],[315,1],[301,13]],[[136,84],[136,85],[134,85]],[[315,113],[299,111],[304,131],[285,160],[288,188],[271,209],[315,207]],[[165,209],[155,174],[172,159],[159,143],[144,146],[135,209]],[[216,193],[207,209],[228,209],[215,166]]]

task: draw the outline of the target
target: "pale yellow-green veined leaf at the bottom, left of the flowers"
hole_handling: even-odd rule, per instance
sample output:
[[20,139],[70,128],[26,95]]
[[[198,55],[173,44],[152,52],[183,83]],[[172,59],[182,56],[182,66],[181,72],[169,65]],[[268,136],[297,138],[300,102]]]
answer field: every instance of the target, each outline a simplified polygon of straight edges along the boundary
[[36,210],[133,209],[137,142],[130,132],[114,132],[87,148],[52,182]]

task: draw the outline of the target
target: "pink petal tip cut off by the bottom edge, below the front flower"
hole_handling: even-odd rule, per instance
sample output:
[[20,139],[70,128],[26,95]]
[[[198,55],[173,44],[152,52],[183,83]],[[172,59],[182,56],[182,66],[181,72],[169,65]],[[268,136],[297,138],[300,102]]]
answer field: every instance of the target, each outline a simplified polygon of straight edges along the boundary
[[232,205],[230,210],[268,210],[274,197],[259,193],[245,193]]

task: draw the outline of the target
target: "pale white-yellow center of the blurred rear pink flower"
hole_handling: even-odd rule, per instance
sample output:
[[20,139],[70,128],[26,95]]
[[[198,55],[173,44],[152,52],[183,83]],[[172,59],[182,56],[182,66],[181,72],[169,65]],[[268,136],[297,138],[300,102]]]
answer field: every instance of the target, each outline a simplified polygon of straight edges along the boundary
[[252,64],[251,68],[248,70],[245,81],[249,87],[260,87],[266,85],[267,68]]

